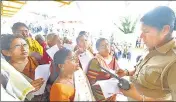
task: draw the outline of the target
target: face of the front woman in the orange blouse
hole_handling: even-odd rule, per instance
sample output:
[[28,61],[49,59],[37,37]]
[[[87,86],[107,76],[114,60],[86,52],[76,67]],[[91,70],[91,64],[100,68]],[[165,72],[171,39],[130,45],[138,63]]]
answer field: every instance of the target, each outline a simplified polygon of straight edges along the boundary
[[77,70],[77,64],[75,63],[72,52],[70,52],[65,60],[64,71],[73,73]]

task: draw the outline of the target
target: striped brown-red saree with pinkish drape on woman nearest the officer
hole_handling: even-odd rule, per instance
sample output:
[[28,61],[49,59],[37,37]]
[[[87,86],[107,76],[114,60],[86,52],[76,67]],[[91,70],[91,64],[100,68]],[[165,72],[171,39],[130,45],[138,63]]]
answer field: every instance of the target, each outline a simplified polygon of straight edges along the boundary
[[114,57],[112,57],[110,63],[107,64],[104,58],[101,55],[97,54],[95,58],[90,61],[87,72],[87,77],[89,79],[96,101],[115,101],[116,94],[112,95],[109,98],[105,98],[100,85],[95,85],[95,83],[99,80],[108,80],[111,78],[108,73],[105,73],[101,70],[100,66],[111,70],[117,70],[117,61]]

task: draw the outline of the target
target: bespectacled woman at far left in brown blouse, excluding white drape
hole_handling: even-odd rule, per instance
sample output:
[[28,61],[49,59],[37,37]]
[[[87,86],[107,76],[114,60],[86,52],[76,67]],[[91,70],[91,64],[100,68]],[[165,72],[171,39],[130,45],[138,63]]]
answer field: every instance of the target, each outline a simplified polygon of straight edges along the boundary
[[34,80],[38,62],[29,55],[29,46],[23,38],[12,34],[1,37],[1,51],[10,58],[9,63],[34,86],[35,91],[43,85],[42,78]]

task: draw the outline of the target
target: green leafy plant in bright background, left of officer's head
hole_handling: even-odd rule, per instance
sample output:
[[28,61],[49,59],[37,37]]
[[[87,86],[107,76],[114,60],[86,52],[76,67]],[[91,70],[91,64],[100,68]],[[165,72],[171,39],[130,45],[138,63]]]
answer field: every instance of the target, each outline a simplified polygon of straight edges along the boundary
[[121,27],[118,27],[120,31],[122,31],[124,34],[130,34],[134,32],[137,19],[135,21],[132,21],[130,17],[123,17],[123,19],[120,21]]

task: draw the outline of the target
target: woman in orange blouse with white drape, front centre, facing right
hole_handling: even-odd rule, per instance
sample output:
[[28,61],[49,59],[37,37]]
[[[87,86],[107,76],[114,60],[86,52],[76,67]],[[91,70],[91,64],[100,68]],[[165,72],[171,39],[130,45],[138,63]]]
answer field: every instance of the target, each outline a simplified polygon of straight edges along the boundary
[[[75,80],[77,80],[79,77],[83,77],[83,81],[87,80],[86,77],[83,75],[83,71],[78,69],[77,64],[73,61],[73,55],[72,52],[66,48],[62,48],[59,51],[57,51],[54,55],[54,60],[53,60],[53,67],[55,70],[58,70],[56,75],[54,76],[55,82],[51,87],[50,91],[50,101],[87,101],[89,97],[86,97],[82,100],[79,100],[81,95],[85,95],[86,88],[88,88],[88,81],[87,82],[82,82],[76,83]],[[74,74],[74,72],[77,72]],[[82,72],[82,74],[80,74]],[[79,76],[76,79],[75,76]],[[81,80],[80,80],[81,81]],[[84,84],[84,85],[82,85]],[[78,89],[81,87],[76,87],[76,86],[83,86],[84,90],[81,90],[82,92],[79,92],[79,95],[77,94]],[[77,90],[77,91],[76,91]],[[91,93],[91,88],[88,89],[88,93]],[[91,95],[91,94],[90,94]],[[79,96],[79,97],[78,97]],[[85,95],[86,96],[86,95]],[[82,97],[85,97],[82,96]],[[78,97],[78,99],[77,99]],[[91,96],[93,97],[93,95]],[[89,100],[93,101],[93,100]]]

